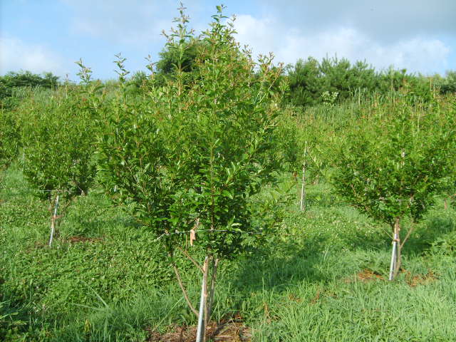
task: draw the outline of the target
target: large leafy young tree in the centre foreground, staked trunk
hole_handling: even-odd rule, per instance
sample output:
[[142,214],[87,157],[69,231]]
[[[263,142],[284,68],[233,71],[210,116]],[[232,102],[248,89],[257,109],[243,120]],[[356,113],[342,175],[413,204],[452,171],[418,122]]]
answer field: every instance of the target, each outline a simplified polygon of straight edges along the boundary
[[[252,219],[261,212],[254,199],[278,168],[269,152],[281,94],[270,85],[280,68],[272,68],[271,57],[255,63],[234,40],[232,22],[224,24],[222,6],[217,11],[198,38],[193,76],[184,75],[178,59],[164,86],[152,86],[144,98],[120,97],[111,130],[98,142],[100,181],[113,199],[133,203],[140,222],[163,244],[199,318],[199,338],[211,316],[219,259],[242,252],[246,239],[264,236],[258,233],[266,227]],[[196,38],[183,9],[180,14],[167,49],[182,57]],[[122,61],[118,66],[125,75]],[[182,283],[176,252],[202,272],[199,311]]]

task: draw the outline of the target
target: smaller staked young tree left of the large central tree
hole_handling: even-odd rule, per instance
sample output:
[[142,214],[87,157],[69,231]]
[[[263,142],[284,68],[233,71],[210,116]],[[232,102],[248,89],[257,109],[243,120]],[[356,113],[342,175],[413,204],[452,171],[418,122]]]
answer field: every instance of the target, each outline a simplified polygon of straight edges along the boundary
[[66,201],[66,208],[71,199],[87,194],[95,177],[94,97],[86,93],[95,85],[89,79],[71,90],[62,87],[46,98],[31,98],[21,108],[24,175],[33,193],[50,201],[50,247],[59,203]]

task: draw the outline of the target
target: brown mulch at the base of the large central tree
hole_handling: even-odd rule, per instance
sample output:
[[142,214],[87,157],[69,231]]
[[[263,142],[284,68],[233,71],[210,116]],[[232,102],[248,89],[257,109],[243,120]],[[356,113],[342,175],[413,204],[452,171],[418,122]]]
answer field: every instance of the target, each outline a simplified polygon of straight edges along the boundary
[[[197,336],[196,326],[175,326],[163,334],[151,331],[150,328],[146,330],[150,334],[148,342],[195,342]],[[252,339],[251,329],[238,319],[222,320],[219,323],[211,321],[206,334],[206,341],[214,342],[247,342]]]

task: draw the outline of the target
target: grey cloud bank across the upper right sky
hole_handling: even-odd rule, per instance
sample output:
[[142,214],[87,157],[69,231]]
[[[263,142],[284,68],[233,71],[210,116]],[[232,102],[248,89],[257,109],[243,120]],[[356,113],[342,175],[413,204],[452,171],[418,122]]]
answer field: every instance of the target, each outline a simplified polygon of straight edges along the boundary
[[269,0],[264,11],[308,31],[353,27],[375,38],[395,41],[417,34],[456,33],[455,0]]

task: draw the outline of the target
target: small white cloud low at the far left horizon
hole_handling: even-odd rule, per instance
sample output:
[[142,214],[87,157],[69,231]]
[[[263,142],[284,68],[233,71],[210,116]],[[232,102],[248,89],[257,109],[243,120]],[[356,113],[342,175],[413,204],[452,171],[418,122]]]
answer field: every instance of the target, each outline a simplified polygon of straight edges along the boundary
[[0,36],[0,74],[9,71],[31,71],[63,76],[66,73],[63,58],[46,46],[27,44],[18,38]]

